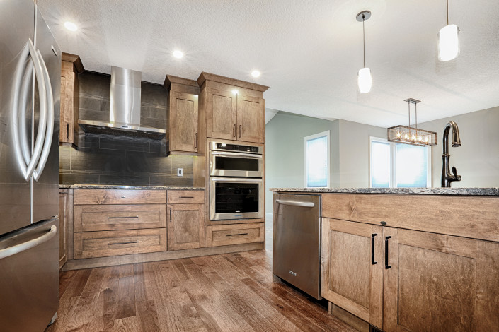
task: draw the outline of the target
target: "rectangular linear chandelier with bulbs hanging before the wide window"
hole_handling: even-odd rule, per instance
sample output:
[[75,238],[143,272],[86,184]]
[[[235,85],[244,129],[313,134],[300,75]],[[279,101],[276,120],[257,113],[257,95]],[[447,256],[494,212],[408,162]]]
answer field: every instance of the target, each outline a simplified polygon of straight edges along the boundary
[[[436,146],[437,133],[418,128],[418,102],[421,101],[409,98],[404,102],[408,104],[409,126],[398,125],[387,129],[388,141],[411,146]],[[411,127],[411,104],[415,105],[415,127]]]

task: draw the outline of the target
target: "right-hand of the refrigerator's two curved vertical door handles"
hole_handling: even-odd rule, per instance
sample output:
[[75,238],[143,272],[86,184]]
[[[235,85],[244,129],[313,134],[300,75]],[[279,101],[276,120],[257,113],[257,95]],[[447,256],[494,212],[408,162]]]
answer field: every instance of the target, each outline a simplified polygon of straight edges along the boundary
[[43,61],[42,54],[40,50],[38,50],[38,57],[40,59],[40,63],[42,64],[43,76],[45,79],[45,86],[47,87],[47,131],[45,132],[45,143],[43,143],[43,150],[40,155],[40,162],[33,172],[33,179],[38,181],[40,176],[42,175],[45,164],[47,163],[47,159],[49,158],[50,147],[52,146],[52,136],[54,134],[54,95],[52,93],[52,84],[50,84],[50,76],[49,71],[47,71],[47,65],[45,65],[45,61]]

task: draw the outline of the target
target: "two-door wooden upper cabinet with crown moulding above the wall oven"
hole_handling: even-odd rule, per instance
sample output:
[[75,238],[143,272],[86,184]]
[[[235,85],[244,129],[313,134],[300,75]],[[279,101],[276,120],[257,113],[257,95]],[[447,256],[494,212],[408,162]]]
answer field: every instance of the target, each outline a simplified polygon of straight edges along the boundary
[[267,86],[202,72],[200,105],[206,137],[265,143]]

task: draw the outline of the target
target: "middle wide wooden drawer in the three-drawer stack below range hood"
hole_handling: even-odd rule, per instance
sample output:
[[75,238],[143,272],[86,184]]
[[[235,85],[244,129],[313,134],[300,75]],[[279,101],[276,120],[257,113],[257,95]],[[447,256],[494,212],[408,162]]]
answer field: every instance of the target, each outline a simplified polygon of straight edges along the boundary
[[166,227],[165,204],[74,206],[74,232],[158,227]]

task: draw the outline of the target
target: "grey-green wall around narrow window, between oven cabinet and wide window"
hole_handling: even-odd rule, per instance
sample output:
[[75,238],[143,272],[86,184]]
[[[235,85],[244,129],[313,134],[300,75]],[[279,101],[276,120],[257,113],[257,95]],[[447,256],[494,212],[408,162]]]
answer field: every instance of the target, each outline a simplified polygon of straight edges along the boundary
[[326,130],[331,139],[330,186],[369,186],[369,136],[385,137],[385,128],[279,112],[265,127],[266,213],[272,213],[269,188],[304,186],[303,138]]

